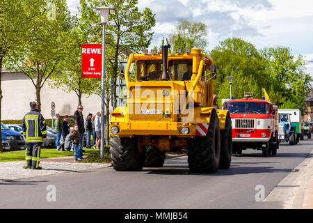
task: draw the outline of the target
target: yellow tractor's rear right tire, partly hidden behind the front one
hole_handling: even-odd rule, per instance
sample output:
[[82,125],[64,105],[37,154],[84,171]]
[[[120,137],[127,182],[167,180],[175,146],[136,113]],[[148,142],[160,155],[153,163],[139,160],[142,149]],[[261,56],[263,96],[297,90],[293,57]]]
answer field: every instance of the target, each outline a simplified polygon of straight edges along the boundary
[[225,130],[220,130],[220,169],[230,168],[232,162],[232,120],[227,113]]

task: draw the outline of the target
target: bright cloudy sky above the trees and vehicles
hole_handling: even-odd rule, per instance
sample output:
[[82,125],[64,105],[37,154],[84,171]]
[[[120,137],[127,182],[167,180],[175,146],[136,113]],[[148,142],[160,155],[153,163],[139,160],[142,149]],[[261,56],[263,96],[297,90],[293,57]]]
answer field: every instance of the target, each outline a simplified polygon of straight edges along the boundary
[[[77,13],[79,0],[67,0],[67,6]],[[138,0],[139,10],[145,7],[156,14],[150,48],[161,45],[184,18],[207,24],[209,50],[230,37],[257,49],[289,47],[305,56],[306,71],[313,77],[313,0]]]

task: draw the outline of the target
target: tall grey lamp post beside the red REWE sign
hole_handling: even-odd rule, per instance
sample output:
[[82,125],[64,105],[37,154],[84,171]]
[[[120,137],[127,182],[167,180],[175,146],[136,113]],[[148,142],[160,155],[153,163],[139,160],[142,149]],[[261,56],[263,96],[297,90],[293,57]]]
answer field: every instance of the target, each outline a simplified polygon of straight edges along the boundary
[[[104,157],[104,94],[105,94],[105,43],[106,43],[106,23],[108,22],[108,17],[109,17],[109,11],[112,10],[113,8],[110,7],[97,7],[97,10],[100,11],[101,15],[101,24],[103,26],[103,31],[102,31],[102,75],[101,75],[101,141],[100,141],[100,157]],[[109,123],[107,123],[109,125]]]

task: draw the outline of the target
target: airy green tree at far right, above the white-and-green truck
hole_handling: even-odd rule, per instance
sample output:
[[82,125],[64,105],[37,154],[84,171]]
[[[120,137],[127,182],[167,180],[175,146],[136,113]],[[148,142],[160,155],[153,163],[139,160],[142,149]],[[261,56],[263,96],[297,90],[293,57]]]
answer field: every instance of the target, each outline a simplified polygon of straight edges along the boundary
[[305,59],[294,56],[289,47],[268,47],[261,50],[267,61],[266,71],[271,82],[268,91],[278,107],[305,112],[305,96],[310,93],[312,77],[305,73]]

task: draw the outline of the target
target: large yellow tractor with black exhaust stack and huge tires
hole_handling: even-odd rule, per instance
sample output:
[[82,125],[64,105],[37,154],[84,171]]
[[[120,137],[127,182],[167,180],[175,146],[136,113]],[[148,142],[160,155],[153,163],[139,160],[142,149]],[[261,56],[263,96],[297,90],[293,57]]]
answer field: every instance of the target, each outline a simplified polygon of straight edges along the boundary
[[[111,113],[111,163],[117,171],[162,167],[166,151],[187,149],[191,172],[230,167],[232,121],[214,106],[216,66],[200,49],[131,54],[120,77],[127,107]],[[134,63],[135,77],[130,77]]]

